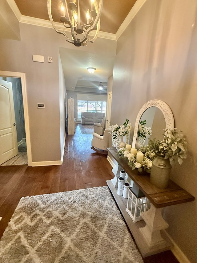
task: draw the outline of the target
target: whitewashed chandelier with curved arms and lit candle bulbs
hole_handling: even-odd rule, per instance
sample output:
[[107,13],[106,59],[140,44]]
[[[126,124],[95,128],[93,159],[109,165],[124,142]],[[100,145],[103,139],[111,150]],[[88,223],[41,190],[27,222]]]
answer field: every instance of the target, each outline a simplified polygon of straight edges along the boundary
[[[70,39],[65,30],[58,28],[53,21],[51,14],[51,0],[47,0],[48,15],[54,29],[65,36],[66,41],[74,44],[77,47],[86,46],[88,42],[93,43],[97,39],[100,29],[100,16],[103,8],[103,0],[99,0],[99,6],[96,0],[90,0],[90,8],[86,12],[86,21],[84,24],[80,20],[80,0],[61,0],[62,16],[59,18],[67,31],[71,32]],[[68,2],[68,3],[67,3]],[[76,3],[77,2],[77,3]],[[88,34],[95,30],[93,38],[88,38]],[[81,38],[78,35],[83,34]]]

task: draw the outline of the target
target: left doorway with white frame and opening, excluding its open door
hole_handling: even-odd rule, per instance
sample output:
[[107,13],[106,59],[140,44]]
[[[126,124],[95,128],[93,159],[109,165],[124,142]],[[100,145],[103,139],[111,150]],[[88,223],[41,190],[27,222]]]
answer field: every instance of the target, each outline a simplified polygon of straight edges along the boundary
[[13,96],[15,104],[17,104],[14,108],[16,124],[18,123],[17,140],[19,150],[17,156],[2,165],[28,164],[32,166],[25,73],[0,71],[0,78],[17,86],[14,88]]

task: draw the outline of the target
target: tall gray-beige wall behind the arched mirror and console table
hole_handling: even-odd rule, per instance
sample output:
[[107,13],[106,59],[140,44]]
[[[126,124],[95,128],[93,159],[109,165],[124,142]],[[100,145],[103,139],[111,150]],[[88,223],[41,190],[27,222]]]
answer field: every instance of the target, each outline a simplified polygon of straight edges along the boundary
[[[113,73],[111,124],[130,119],[151,99],[171,108],[175,127],[189,143],[187,159],[171,179],[197,198],[197,2],[147,0],[118,39]],[[197,202],[165,208],[167,232],[194,263]]]

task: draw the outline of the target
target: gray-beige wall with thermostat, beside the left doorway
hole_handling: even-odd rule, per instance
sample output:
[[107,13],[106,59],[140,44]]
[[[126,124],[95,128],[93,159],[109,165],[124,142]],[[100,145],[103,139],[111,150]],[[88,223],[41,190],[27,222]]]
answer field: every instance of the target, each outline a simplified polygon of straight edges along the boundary
[[[32,162],[59,161],[65,133],[65,83],[59,47],[115,55],[116,42],[98,38],[87,47],[74,47],[52,28],[19,26],[20,41],[1,38],[0,70],[26,74]],[[44,63],[34,62],[34,54],[43,55]],[[53,57],[53,63],[48,63],[48,56]],[[37,109],[37,103],[45,103],[45,109]]]

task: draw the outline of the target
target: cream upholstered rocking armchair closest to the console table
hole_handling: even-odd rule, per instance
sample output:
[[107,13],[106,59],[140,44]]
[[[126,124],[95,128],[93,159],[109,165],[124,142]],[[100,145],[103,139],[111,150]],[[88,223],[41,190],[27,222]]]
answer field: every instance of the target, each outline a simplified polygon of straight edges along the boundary
[[105,129],[103,136],[93,133],[92,149],[100,154],[108,154],[107,147],[109,147],[110,129]]

